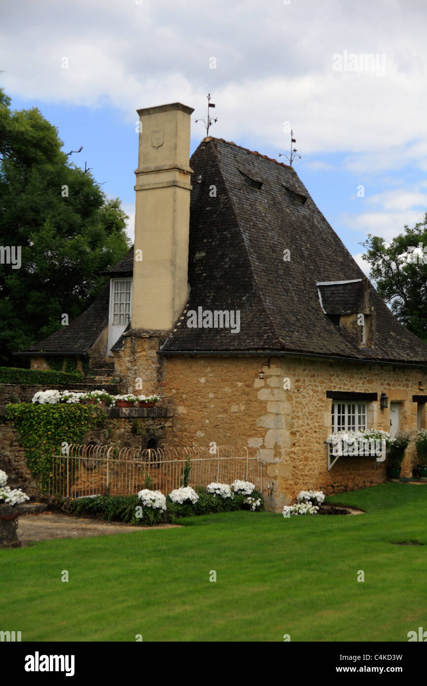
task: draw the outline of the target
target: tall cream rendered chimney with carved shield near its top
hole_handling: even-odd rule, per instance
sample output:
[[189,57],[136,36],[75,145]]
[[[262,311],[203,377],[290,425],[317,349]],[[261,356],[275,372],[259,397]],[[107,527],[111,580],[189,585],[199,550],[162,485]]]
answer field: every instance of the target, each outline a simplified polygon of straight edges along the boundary
[[187,302],[193,111],[180,102],[137,110],[132,329],[167,331]]

